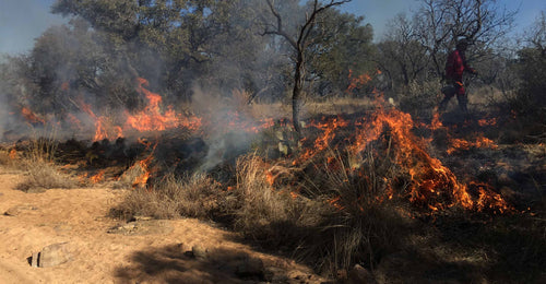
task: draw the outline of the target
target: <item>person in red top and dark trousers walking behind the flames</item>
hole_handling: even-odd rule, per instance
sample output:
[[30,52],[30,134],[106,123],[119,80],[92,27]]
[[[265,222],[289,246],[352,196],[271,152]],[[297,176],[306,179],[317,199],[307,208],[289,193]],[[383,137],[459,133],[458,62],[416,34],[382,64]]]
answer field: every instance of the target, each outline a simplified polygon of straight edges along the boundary
[[468,72],[477,74],[477,72],[466,63],[465,51],[467,47],[468,40],[466,38],[459,39],[455,50],[448,56],[448,61],[446,62],[446,80],[450,86],[442,88],[443,99],[438,107],[438,111],[440,113],[446,110],[449,100],[454,95],[456,95],[456,100],[459,102],[461,110],[465,114],[468,111],[466,106],[468,104],[468,98],[463,84],[463,73]]

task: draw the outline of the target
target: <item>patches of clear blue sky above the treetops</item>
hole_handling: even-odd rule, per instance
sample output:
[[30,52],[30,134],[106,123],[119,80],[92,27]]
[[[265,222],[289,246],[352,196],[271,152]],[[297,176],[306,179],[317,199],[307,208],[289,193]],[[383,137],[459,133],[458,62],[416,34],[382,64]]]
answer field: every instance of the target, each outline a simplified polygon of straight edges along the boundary
[[[259,1],[259,0],[256,0]],[[32,49],[34,39],[51,25],[66,23],[54,15],[50,5],[55,0],[0,0],[0,54],[17,55]],[[541,11],[546,11],[544,0],[497,0],[499,7],[519,9],[515,33],[529,27]],[[353,0],[342,7],[345,12],[364,15],[365,23],[373,26],[375,39],[380,40],[390,20],[396,14],[417,10],[419,0]]]

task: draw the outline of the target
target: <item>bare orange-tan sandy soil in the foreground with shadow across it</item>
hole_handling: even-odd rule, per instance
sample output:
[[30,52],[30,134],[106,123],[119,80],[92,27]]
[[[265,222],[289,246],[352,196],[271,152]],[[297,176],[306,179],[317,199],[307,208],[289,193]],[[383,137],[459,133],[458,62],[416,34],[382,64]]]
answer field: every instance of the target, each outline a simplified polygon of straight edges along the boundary
[[[236,273],[248,259],[262,260],[271,282],[323,281],[306,267],[258,252],[234,233],[197,220],[111,234],[120,222],[106,215],[127,191],[25,193],[14,189],[23,178],[24,173],[0,167],[0,283],[256,283]],[[69,242],[72,261],[51,268],[29,264],[33,252],[57,242]],[[189,256],[192,247],[206,250],[206,257]]]

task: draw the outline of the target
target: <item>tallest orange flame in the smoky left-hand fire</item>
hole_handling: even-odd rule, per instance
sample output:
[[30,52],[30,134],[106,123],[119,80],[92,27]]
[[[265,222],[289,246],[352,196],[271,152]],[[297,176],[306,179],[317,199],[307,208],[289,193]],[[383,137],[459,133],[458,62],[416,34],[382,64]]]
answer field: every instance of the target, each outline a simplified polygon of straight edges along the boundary
[[144,86],[147,86],[145,79],[138,79],[138,91],[147,98],[147,106],[140,113],[131,115],[126,113],[126,127],[133,128],[140,132],[143,131],[163,131],[173,128],[187,128],[198,130],[201,127],[201,118],[190,116],[183,117],[177,114],[173,106],[168,106],[167,110],[162,114],[161,103],[162,96],[150,92]]

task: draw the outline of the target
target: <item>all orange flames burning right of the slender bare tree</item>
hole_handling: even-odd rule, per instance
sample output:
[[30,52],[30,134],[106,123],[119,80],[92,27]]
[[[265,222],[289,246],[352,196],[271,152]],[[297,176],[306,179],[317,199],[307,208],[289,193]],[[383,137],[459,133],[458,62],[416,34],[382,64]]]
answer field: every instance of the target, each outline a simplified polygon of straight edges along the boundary
[[[379,108],[369,117],[360,118],[354,122],[356,130],[353,138],[346,139],[342,143],[348,143],[347,150],[352,156],[361,156],[369,144],[383,139],[388,143],[389,155],[402,169],[407,170],[410,184],[404,192],[399,193],[414,204],[420,204],[431,211],[440,211],[454,205],[460,205],[468,210],[482,211],[484,209],[508,211],[506,201],[491,189],[479,186],[476,190],[475,184],[465,185],[458,180],[456,176],[446,167],[440,159],[428,154],[428,143],[418,138],[412,131],[415,123],[408,114],[391,107],[381,107],[384,104],[382,98],[377,102]],[[296,163],[311,158],[317,153],[324,151],[333,141],[335,130],[348,126],[348,122],[339,118],[324,122],[312,122],[312,126],[323,130],[322,135],[316,139],[313,146],[297,157]],[[439,119],[432,119],[430,128],[440,128]],[[487,138],[477,138],[475,142],[463,142],[464,140],[451,139],[453,143],[461,143],[462,146],[491,147],[497,145]],[[325,157],[328,166],[332,158]],[[358,162],[352,162],[355,164]],[[346,170],[351,175],[366,177],[364,169],[359,166],[351,165]],[[391,185],[385,181],[385,196],[379,198],[392,199],[396,193]],[[339,204],[339,200],[332,200],[331,204]]]

